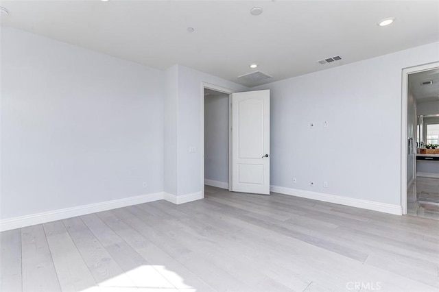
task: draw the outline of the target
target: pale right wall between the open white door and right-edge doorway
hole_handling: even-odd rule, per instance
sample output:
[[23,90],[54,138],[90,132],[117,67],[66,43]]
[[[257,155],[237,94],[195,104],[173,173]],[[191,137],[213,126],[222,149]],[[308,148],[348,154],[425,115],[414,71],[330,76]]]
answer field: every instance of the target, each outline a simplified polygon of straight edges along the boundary
[[400,205],[401,71],[438,51],[436,42],[254,88],[271,89],[271,183]]

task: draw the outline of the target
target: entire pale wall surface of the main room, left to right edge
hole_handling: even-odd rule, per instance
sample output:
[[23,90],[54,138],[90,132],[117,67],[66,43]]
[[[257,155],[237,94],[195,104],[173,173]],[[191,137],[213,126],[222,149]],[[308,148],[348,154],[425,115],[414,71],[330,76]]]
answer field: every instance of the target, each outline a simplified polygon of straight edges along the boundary
[[[252,88],[272,90],[272,184],[400,204],[401,69],[438,51],[434,43]],[[202,191],[202,82],[248,90],[3,27],[1,219]]]

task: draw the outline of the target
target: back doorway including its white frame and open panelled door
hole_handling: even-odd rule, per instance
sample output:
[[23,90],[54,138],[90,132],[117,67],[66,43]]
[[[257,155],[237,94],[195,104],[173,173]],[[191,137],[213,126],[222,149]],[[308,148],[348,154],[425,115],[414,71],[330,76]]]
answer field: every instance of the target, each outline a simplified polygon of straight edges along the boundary
[[202,84],[201,117],[202,190],[270,195],[270,90]]

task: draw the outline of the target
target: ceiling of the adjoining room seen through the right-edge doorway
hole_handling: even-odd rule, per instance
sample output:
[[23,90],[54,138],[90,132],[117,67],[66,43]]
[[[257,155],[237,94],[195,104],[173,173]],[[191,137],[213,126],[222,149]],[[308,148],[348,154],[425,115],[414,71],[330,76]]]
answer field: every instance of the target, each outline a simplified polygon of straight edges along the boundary
[[[423,85],[431,81],[432,84]],[[439,69],[409,75],[409,89],[419,102],[439,101]]]

